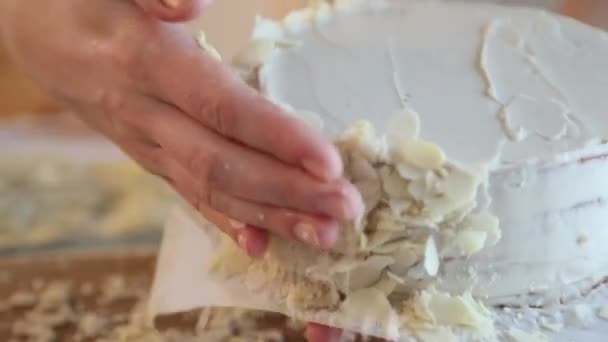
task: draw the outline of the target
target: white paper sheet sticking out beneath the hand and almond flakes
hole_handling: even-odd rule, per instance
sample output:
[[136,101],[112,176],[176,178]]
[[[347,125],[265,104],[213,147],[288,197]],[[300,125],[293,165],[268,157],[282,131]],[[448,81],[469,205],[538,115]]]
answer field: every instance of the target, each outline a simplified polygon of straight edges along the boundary
[[173,211],[167,221],[151,290],[148,305],[151,317],[201,307],[239,307],[280,312],[300,320],[349,331],[365,329],[367,334],[381,337],[398,336],[396,321],[386,328],[385,324],[370,320],[346,321],[345,317],[328,311],[292,313],[285,303],[274,299],[276,289],[272,287],[252,293],[245,286],[243,277],[226,280],[209,273],[210,262],[220,246],[219,242],[218,230],[212,224],[193,218],[183,207]]

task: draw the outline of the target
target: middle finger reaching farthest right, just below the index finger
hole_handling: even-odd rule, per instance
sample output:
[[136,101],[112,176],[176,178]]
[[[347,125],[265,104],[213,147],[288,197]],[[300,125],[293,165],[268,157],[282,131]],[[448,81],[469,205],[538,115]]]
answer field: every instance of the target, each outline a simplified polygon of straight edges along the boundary
[[197,180],[199,188],[190,191],[198,194],[201,205],[213,206],[216,194],[225,193],[259,208],[289,208],[337,221],[356,218],[363,209],[359,193],[344,180],[321,182],[223,139],[170,106],[150,107],[145,129]]

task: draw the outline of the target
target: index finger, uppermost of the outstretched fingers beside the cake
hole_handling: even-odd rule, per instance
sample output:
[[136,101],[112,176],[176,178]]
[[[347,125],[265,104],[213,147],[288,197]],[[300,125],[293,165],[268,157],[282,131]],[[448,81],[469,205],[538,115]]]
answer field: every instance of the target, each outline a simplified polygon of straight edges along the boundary
[[155,66],[158,71],[151,75],[158,97],[224,137],[316,177],[341,176],[340,156],[320,132],[264,98],[193,39],[170,33],[161,33],[167,37],[160,39],[156,58],[149,59],[163,66]]

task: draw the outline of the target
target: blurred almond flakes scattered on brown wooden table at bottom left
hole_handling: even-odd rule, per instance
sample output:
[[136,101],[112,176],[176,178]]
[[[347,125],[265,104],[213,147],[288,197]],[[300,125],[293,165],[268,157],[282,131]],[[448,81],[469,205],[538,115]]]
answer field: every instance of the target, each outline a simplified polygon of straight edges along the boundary
[[[96,340],[107,342],[286,342],[284,329],[266,327],[264,320],[284,321],[279,314],[261,311],[205,308],[199,314],[194,331],[168,329],[158,331],[147,322],[145,292],[141,288],[127,285],[120,275],[106,279],[100,288],[85,283],[75,288],[65,281],[40,284],[38,290],[18,290],[0,303],[0,312],[26,310],[15,320],[11,335],[13,339],[52,342],[63,337],[61,329],[74,326],[74,341]],[[83,291],[83,289],[85,289]],[[98,290],[98,291],[97,291]],[[85,293],[83,293],[85,292]],[[130,314],[107,314],[85,310],[78,305],[78,298],[99,294],[100,308],[117,301],[137,299]],[[290,321],[287,328],[303,336],[304,324]],[[303,339],[302,339],[303,341]]]

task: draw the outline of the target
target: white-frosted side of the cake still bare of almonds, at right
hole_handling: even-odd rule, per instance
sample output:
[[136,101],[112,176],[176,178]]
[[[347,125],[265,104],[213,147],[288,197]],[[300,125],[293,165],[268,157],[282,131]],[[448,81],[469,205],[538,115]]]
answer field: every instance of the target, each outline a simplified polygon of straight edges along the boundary
[[440,287],[457,292],[474,284],[474,296],[491,304],[543,306],[601,284],[608,276],[605,150],[494,173],[489,211],[500,218],[503,238],[472,258],[446,261]]

